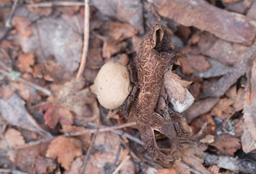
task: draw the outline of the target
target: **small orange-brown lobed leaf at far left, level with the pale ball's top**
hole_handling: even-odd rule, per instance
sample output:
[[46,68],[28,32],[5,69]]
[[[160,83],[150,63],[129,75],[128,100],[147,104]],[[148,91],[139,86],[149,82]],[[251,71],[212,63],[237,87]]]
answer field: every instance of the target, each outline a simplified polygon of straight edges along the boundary
[[33,73],[31,66],[35,64],[35,55],[32,53],[20,54],[17,61],[17,67],[22,72]]

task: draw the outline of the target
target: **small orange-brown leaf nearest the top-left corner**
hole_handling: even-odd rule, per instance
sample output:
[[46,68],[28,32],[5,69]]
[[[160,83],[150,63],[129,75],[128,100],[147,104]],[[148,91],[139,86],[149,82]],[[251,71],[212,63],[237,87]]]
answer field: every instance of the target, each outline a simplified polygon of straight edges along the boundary
[[31,21],[29,20],[29,18],[15,16],[12,18],[12,25],[21,36],[24,36],[26,38],[31,36]]

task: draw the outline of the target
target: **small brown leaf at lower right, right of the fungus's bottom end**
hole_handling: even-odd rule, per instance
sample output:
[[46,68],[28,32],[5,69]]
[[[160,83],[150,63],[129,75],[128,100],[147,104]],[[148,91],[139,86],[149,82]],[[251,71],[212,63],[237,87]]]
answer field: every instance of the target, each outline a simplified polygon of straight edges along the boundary
[[218,154],[227,156],[234,156],[234,153],[241,149],[241,141],[230,134],[214,136],[214,142],[210,145],[218,149]]

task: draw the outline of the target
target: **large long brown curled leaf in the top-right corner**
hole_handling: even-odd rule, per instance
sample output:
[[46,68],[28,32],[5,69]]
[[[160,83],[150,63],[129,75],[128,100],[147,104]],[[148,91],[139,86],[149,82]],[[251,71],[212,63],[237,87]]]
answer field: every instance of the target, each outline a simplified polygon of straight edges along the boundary
[[206,1],[157,0],[154,4],[159,15],[185,26],[209,31],[223,40],[252,45],[255,38],[256,23],[252,19],[222,10]]

